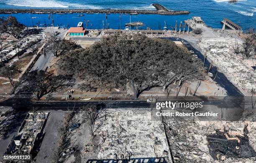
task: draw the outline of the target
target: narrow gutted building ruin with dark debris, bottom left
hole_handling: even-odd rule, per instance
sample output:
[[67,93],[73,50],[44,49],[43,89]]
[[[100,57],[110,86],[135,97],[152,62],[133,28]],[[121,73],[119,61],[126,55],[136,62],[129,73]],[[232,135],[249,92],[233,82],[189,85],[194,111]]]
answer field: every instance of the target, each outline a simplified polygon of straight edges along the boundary
[[28,113],[18,133],[11,139],[5,154],[32,154],[42,141],[48,113]]

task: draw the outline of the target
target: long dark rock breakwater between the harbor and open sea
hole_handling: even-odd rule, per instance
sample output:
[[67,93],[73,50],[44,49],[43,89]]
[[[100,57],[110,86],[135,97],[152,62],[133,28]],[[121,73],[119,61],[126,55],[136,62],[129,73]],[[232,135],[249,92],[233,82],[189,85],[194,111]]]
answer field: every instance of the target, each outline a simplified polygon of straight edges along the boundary
[[156,10],[107,10],[107,9],[0,9],[1,14],[11,13],[122,13],[122,14],[156,14],[156,15],[180,15],[189,14],[189,11],[170,11],[160,4],[152,4]]

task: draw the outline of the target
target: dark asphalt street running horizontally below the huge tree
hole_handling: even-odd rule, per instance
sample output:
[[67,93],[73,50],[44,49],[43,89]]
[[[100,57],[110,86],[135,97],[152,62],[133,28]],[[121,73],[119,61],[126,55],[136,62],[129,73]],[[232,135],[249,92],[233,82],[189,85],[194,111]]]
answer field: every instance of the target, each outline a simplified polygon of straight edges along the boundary
[[[158,100],[156,102],[203,102],[204,105],[215,106],[215,107],[235,107],[244,103],[242,96],[238,97],[224,97],[215,99],[207,98],[190,98],[184,99],[180,97],[178,99],[166,99]],[[11,106],[14,109],[27,110],[34,108],[40,108],[42,110],[60,109],[68,110],[70,107],[79,108],[87,104],[97,104],[104,108],[152,108],[155,107],[155,103],[148,103],[146,100],[102,100],[102,101],[31,101],[30,99],[8,99],[0,102],[0,106]],[[249,100],[250,102],[250,100]]]

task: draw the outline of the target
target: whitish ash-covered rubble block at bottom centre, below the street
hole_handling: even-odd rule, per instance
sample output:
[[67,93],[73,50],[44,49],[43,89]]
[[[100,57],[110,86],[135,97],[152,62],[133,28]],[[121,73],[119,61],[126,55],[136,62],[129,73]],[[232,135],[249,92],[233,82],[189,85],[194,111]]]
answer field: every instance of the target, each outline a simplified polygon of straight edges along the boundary
[[111,112],[97,133],[101,135],[98,159],[169,159],[164,126],[151,121],[149,111]]

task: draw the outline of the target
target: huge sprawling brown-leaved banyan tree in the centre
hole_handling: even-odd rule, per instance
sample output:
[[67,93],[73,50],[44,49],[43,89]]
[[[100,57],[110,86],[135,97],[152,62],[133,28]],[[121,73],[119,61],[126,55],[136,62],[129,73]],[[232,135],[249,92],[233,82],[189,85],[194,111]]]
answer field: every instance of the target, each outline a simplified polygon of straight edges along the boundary
[[145,35],[102,37],[88,49],[61,57],[59,66],[67,74],[99,81],[105,86],[119,87],[129,82],[134,99],[154,86],[166,88],[175,81],[202,77],[200,61],[187,49]]

